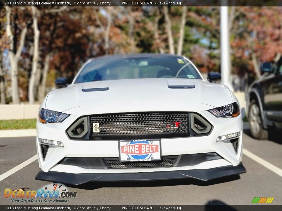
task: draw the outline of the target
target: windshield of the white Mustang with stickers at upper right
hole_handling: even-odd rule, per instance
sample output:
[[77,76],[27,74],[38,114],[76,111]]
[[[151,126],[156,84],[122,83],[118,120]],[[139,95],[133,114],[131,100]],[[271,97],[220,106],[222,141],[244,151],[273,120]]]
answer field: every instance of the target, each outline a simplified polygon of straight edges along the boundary
[[202,79],[183,57],[104,57],[86,64],[74,83],[144,78]]

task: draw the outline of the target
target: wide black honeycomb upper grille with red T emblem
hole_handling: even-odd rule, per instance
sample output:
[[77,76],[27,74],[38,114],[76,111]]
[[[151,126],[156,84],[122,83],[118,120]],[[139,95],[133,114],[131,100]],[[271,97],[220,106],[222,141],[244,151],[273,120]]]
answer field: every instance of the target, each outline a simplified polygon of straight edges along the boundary
[[[189,136],[188,113],[118,113],[90,115],[92,139],[169,138]],[[99,123],[100,133],[93,133]]]

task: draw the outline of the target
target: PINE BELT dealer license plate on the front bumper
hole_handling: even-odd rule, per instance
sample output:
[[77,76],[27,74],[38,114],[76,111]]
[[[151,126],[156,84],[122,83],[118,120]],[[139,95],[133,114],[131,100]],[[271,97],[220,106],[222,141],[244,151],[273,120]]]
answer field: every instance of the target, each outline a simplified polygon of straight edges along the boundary
[[119,140],[121,162],[161,160],[161,139]]

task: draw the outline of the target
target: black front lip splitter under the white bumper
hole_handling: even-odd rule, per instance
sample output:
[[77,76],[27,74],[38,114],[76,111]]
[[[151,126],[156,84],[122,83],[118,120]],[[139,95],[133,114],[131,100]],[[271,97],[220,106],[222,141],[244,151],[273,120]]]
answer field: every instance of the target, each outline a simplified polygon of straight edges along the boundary
[[90,181],[150,181],[194,178],[208,181],[224,176],[245,173],[246,169],[240,163],[238,166],[224,166],[212,169],[191,169],[182,171],[158,171],[143,173],[64,173],[49,171],[39,171],[36,175],[37,180],[58,182],[71,185],[81,185]]

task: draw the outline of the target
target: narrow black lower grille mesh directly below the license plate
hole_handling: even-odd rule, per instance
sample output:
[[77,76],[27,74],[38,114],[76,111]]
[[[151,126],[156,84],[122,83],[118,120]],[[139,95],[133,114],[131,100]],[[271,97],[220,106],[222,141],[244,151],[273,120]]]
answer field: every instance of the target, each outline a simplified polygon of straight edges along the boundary
[[120,162],[118,158],[103,158],[105,166],[109,169],[130,169],[130,168],[156,168],[172,167],[177,161],[178,156],[162,156],[160,161],[142,162]]

